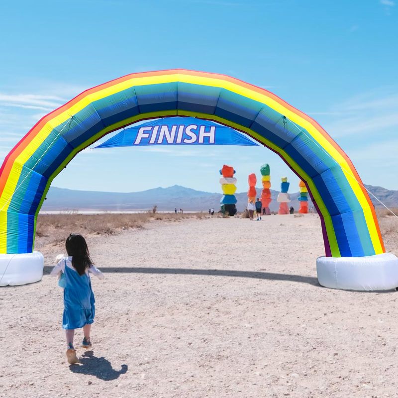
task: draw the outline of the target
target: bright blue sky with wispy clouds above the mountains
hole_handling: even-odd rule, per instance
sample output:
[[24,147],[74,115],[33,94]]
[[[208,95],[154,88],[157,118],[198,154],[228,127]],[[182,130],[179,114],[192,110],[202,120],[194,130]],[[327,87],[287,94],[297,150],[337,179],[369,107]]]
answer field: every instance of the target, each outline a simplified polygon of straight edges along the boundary
[[[398,190],[395,0],[7,1],[0,35],[0,161],[82,91],[132,72],[186,68],[270,90],[317,120],[365,184]],[[220,192],[224,163],[236,169],[239,191],[263,163],[273,188],[287,175],[296,191],[285,163],[256,147],[87,149],[53,185]]]

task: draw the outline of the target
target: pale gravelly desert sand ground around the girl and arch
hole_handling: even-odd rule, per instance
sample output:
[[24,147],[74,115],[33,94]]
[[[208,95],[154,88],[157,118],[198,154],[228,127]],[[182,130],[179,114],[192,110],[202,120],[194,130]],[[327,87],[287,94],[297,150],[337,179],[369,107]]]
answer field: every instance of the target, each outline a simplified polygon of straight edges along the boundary
[[398,396],[398,295],[320,287],[317,215],[152,221],[87,240],[105,274],[92,279],[93,350],[67,364],[48,275],[64,250],[38,238],[43,280],[0,289],[1,397]]

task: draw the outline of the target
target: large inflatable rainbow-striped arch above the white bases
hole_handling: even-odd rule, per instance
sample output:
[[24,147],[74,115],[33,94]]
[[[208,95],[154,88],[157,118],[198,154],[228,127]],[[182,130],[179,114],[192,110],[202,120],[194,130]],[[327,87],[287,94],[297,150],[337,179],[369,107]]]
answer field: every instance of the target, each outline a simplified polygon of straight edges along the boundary
[[139,120],[196,116],[243,131],[278,153],[319,213],[327,257],[385,252],[373,204],[353,164],[309,116],[267,90],[189,70],[135,73],[89,89],[44,116],[0,169],[0,253],[31,253],[55,176],[103,135]]

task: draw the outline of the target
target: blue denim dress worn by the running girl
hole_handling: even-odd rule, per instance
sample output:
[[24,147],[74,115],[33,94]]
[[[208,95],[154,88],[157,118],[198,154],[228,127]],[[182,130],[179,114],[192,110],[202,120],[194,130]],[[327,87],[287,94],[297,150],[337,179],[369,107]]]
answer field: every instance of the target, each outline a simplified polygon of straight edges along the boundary
[[96,308],[90,277],[69,268],[65,260],[64,329],[78,329],[94,322]]

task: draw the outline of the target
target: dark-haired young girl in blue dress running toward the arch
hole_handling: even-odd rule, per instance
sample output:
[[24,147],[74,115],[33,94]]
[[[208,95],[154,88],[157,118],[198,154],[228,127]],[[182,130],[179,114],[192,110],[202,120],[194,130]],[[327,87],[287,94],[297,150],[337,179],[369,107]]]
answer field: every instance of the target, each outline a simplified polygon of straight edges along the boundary
[[83,327],[82,346],[86,349],[91,348],[90,329],[94,322],[96,308],[89,272],[100,279],[103,279],[104,276],[92,264],[86,240],[82,235],[70,234],[66,239],[65,246],[69,257],[63,258],[53,268],[50,275],[58,276],[62,273],[65,278],[62,327],[66,333],[68,362],[76,364],[78,358],[73,346],[75,329]]

